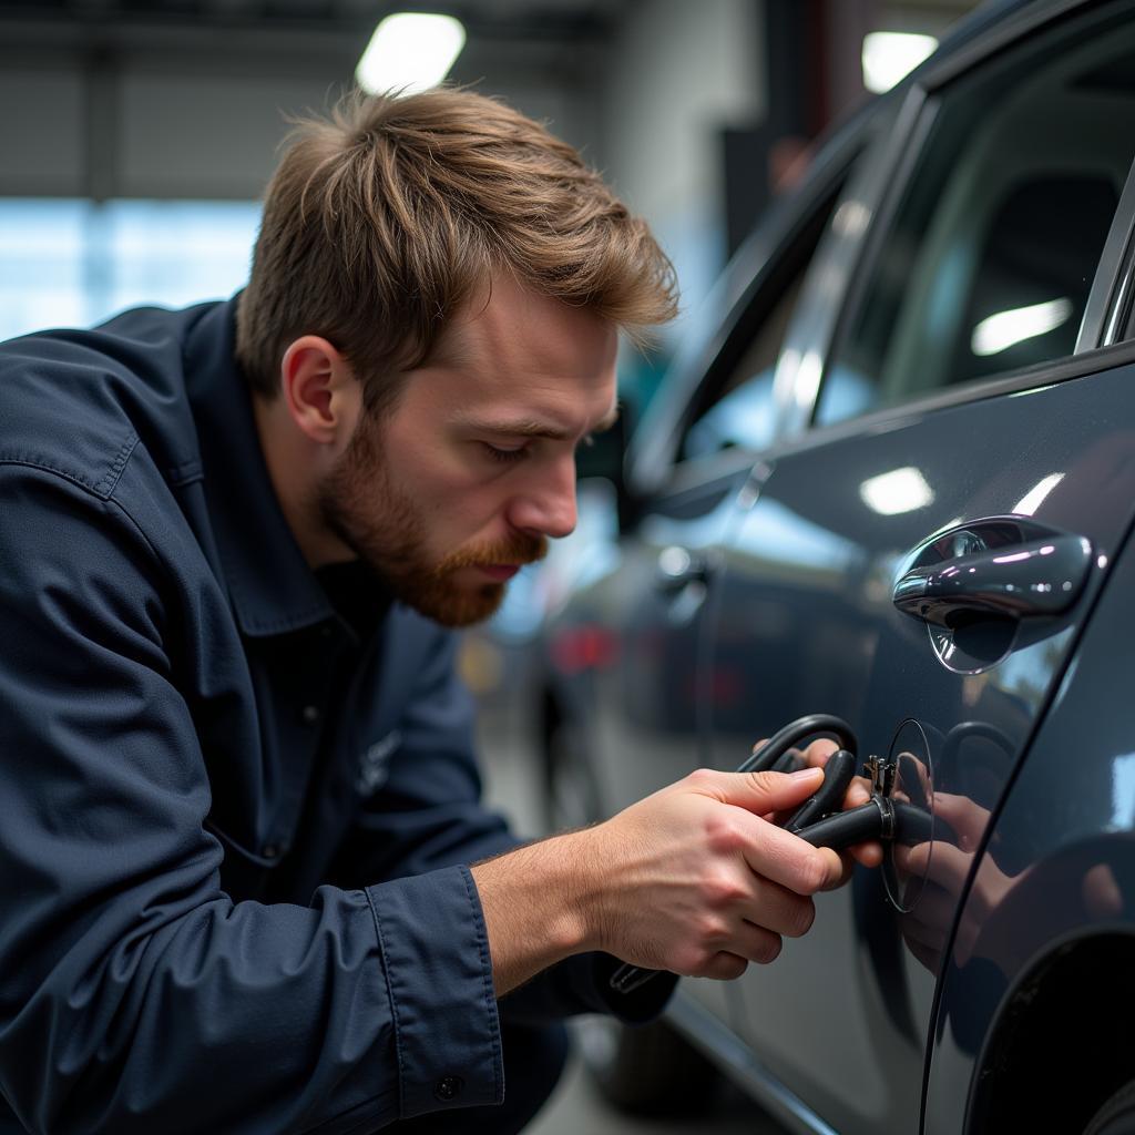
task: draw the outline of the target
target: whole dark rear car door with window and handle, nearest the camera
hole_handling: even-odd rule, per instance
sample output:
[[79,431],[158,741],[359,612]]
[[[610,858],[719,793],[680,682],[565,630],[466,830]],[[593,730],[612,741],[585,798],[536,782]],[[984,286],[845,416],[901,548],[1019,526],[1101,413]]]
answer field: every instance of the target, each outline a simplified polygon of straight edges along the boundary
[[[1029,10],[922,76],[888,192],[835,211],[777,367],[783,439],[728,523],[713,763],[842,716],[960,865],[950,885],[892,849],[742,978],[738,1027],[801,1129],[918,1129],[965,866],[1132,521],[1135,353],[1110,339],[1133,74],[1111,3]],[[927,574],[949,609],[899,609]]]

